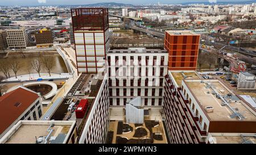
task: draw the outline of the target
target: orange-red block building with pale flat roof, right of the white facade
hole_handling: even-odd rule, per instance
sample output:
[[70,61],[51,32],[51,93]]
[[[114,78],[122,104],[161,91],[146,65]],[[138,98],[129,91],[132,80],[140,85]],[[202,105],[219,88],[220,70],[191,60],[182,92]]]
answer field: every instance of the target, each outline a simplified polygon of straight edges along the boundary
[[166,31],[168,70],[196,70],[200,35],[192,31]]

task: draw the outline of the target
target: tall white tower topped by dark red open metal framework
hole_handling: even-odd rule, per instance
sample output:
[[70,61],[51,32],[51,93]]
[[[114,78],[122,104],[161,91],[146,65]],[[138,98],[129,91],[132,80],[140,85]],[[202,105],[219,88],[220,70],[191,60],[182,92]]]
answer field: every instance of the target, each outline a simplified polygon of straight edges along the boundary
[[71,9],[78,73],[102,73],[109,49],[109,18],[105,8]]

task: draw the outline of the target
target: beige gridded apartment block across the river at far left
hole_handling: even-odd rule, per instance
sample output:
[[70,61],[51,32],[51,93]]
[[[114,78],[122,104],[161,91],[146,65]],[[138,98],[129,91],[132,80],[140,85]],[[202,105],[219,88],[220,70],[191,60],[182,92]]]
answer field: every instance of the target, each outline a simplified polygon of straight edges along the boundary
[[28,44],[28,35],[26,28],[10,29],[7,31],[7,44],[8,47],[13,48],[26,48]]

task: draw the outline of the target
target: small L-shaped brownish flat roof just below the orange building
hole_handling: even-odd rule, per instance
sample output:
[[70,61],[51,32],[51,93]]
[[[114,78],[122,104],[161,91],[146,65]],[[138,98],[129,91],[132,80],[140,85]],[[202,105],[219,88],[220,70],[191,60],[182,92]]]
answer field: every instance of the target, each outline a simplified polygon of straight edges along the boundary
[[200,76],[198,74],[196,74],[196,72],[194,72],[194,71],[190,71],[190,72],[169,71],[169,72],[171,73],[172,77],[174,77],[174,79],[179,87],[181,87],[181,82],[183,79],[201,79]]

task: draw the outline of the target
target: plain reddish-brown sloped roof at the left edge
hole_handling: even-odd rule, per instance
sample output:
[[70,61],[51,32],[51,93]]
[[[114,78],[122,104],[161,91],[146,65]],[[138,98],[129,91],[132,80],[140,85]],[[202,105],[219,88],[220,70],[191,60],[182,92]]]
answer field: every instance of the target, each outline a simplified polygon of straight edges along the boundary
[[0,134],[23,114],[39,95],[22,87],[0,97]]

